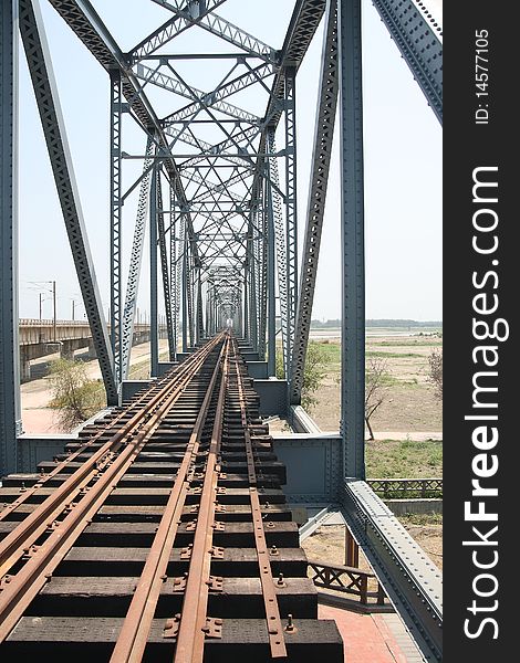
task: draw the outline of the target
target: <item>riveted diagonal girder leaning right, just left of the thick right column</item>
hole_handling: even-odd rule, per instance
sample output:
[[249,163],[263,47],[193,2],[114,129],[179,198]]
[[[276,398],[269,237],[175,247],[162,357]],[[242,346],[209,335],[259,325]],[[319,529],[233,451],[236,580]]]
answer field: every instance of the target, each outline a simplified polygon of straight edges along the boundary
[[318,275],[318,260],[325,213],[326,186],[332,158],[334,119],[337,106],[337,2],[330,0],[325,17],[319,107],[314,128],[305,238],[298,297],[297,324],[292,350],[290,402],[299,404],[303,387],[306,347],[311,329],[312,304]]

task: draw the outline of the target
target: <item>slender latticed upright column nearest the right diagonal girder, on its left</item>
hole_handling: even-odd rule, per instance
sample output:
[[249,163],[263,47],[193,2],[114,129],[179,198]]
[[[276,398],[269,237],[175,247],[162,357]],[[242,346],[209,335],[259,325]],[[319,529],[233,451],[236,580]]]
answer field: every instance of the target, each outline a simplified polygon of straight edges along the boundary
[[[297,104],[293,66],[285,70],[285,244],[287,244],[287,372],[291,378],[292,346],[298,303],[298,228],[297,228]],[[290,386],[289,386],[290,387]]]

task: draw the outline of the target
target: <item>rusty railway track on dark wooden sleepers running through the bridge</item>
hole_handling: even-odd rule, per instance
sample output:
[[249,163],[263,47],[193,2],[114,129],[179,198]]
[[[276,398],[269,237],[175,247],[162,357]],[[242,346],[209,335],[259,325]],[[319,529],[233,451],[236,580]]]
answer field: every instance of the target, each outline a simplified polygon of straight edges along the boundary
[[0,488],[0,656],[343,661],[227,332]]

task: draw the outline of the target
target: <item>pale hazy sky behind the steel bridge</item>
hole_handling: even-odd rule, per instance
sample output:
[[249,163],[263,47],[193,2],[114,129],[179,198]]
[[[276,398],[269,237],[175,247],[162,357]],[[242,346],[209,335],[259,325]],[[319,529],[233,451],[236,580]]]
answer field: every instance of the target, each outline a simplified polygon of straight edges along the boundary
[[[54,10],[45,1],[41,4],[106,315],[110,301],[108,76]],[[97,0],[94,6],[123,50],[129,50],[168,17],[168,12],[148,0]],[[254,9],[259,6],[262,11]],[[262,0],[261,3],[228,0],[218,13],[280,48],[293,6],[293,0]],[[441,130],[376,10],[367,0],[363,2],[363,10],[366,316],[440,319]],[[122,15],[125,17],[124,24]],[[321,27],[298,74],[300,242],[306,213],[322,35]],[[183,49],[200,52],[215,44],[211,39],[193,28],[171,43],[169,52],[174,52],[174,44],[176,52]],[[204,85],[209,73],[198,69],[197,62],[184,66],[190,84],[202,90],[210,87]],[[256,107],[253,102],[251,99],[251,110],[261,114],[264,101]],[[313,309],[313,317],[318,318],[335,318],[341,311],[337,138],[336,127]],[[128,122],[124,126],[124,141],[126,151],[143,154],[144,138]],[[137,162],[125,164],[124,188],[138,170]],[[125,204],[125,254],[129,254],[135,202],[135,197],[131,197]],[[138,304],[142,311],[148,308],[146,261],[145,252]],[[125,282],[126,265],[127,260],[124,262]],[[81,295],[21,51],[21,317],[38,317],[39,292],[49,286],[37,282],[54,278],[58,282],[58,315],[67,318],[72,298],[80,302]],[[43,306],[43,316],[50,317],[51,302],[45,301]],[[80,304],[76,315],[83,315]]]

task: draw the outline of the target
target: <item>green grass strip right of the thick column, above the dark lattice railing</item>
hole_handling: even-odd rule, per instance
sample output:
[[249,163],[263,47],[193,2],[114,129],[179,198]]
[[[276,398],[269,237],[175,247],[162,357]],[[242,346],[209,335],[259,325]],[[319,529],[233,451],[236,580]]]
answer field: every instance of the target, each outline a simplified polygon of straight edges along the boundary
[[443,442],[383,440],[365,445],[368,478],[420,478],[443,475]]

